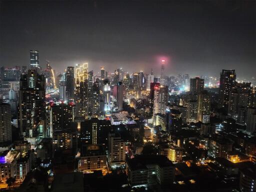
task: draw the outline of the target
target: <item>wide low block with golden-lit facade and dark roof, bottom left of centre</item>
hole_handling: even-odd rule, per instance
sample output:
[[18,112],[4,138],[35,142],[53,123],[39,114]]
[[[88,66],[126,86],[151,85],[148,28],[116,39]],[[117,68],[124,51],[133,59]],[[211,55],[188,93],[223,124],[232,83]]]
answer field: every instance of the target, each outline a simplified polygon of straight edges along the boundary
[[82,145],[78,170],[84,173],[107,168],[106,153],[102,145]]

